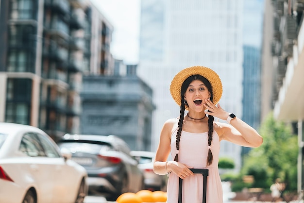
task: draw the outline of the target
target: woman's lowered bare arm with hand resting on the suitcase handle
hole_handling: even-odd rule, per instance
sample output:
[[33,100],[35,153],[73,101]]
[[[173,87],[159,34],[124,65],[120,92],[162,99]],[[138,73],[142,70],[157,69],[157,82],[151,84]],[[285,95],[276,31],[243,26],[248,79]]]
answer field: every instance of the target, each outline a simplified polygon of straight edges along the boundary
[[166,162],[171,149],[170,143],[173,126],[176,124],[177,120],[175,118],[169,119],[165,122],[162,128],[159,145],[155,154],[153,171],[159,175],[165,175],[167,172],[173,172],[180,178],[184,179],[189,175],[193,175],[193,172],[190,170],[193,167],[176,161]]

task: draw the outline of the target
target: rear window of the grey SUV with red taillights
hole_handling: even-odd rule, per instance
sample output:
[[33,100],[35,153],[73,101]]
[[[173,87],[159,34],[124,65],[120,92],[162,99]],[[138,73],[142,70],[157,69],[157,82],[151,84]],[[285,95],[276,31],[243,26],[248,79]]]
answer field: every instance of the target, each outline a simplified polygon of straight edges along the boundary
[[60,148],[67,148],[70,152],[87,152],[98,154],[102,151],[110,151],[114,150],[113,147],[109,143],[105,142],[91,142],[91,141],[71,141],[66,140],[64,142],[59,142],[58,146]]

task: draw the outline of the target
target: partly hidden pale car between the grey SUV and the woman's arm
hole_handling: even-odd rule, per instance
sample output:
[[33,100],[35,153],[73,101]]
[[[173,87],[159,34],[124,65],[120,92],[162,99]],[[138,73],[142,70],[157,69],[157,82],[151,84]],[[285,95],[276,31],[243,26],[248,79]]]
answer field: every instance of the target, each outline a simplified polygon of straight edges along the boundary
[[166,191],[168,177],[166,175],[158,175],[153,171],[155,152],[131,151],[131,155],[138,161],[138,168],[144,173],[145,189]]

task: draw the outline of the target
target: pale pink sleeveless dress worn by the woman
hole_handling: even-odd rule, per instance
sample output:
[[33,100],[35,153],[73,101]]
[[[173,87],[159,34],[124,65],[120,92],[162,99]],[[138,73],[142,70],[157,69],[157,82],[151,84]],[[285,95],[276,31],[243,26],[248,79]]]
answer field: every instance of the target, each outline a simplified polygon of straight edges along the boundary
[[[171,135],[171,156],[176,154],[176,131]],[[213,131],[211,151],[213,162],[206,167],[208,155],[208,132],[188,133],[182,131],[180,139],[180,149],[178,161],[192,166],[195,169],[209,169],[207,177],[207,203],[223,203],[223,191],[218,169],[220,138],[216,131]],[[179,177],[170,173],[167,186],[167,203],[178,203],[178,183]],[[194,174],[183,180],[182,203],[202,203],[203,202],[203,175]]]

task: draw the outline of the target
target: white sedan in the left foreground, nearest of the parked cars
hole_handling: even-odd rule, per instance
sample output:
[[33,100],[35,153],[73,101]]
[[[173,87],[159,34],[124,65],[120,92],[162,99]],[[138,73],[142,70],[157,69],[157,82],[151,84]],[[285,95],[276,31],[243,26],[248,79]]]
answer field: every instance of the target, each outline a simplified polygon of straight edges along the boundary
[[0,203],[83,203],[85,169],[42,130],[0,122]]

